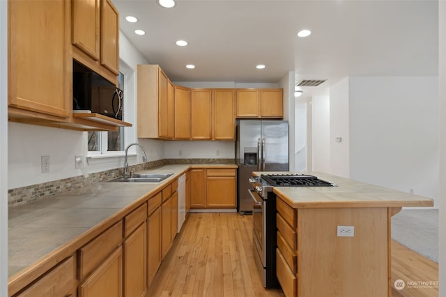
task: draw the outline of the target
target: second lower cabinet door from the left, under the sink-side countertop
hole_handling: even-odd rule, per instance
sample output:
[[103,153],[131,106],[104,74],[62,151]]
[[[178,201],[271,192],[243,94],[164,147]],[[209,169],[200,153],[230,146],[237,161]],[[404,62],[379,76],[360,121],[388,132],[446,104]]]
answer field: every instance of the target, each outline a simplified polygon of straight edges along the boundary
[[124,296],[146,294],[146,221],[124,241]]

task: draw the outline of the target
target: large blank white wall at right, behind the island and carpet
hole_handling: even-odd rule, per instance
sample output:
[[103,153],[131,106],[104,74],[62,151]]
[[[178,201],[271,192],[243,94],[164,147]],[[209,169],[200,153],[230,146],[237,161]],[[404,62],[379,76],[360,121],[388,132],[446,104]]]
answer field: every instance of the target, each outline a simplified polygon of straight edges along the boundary
[[349,90],[350,177],[438,198],[438,77],[350,77]]

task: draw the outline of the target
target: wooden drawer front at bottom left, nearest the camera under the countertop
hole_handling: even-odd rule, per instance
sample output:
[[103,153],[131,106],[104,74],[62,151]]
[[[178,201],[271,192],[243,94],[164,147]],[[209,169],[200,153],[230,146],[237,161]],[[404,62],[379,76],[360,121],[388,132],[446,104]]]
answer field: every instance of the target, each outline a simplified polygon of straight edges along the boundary
[[75,282],[76,265],[74,257],[71,256],[16,296],[75,296]]

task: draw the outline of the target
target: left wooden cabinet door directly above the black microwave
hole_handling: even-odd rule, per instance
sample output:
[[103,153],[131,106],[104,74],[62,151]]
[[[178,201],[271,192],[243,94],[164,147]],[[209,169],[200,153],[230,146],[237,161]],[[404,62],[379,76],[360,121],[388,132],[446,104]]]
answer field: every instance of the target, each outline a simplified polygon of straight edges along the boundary
[[72,1],[72,43],[100,59],[100,0]]

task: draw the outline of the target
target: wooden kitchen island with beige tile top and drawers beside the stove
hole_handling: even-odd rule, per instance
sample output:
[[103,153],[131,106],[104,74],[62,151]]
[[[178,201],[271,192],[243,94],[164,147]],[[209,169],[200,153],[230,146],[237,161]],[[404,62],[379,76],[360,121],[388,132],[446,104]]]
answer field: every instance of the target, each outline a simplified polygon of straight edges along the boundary
[[[254,172],[267,173],[284,172]],[[277,278],[285,296],[392,296],[392,216],[401,207],[432,207],[433,200],[321,172],[305,174],[337,186],[273,188]]]

